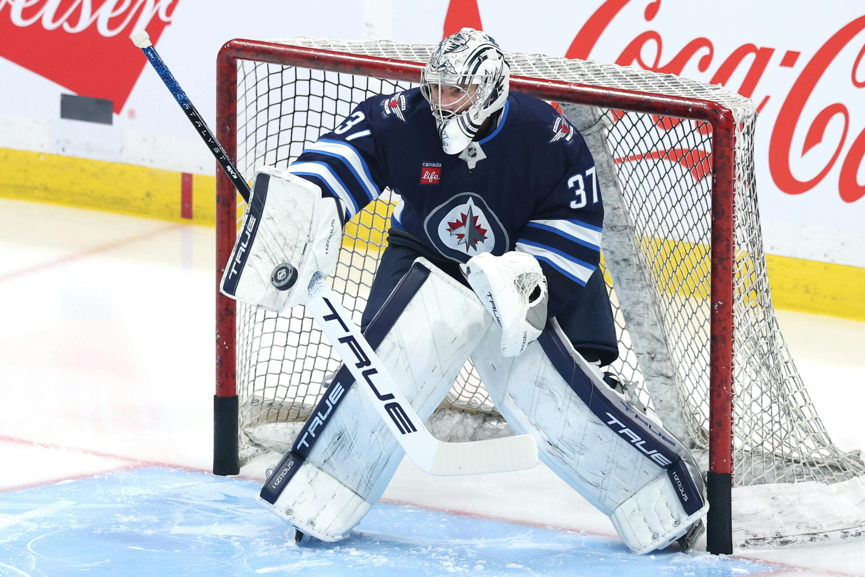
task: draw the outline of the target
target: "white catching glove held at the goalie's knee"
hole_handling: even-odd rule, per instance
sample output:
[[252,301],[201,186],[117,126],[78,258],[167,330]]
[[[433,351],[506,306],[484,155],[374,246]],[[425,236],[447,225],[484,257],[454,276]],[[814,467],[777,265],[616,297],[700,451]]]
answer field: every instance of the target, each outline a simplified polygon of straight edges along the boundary
[[517,356],[547,324],[547,279],[534,256],[480,253],[460,269],[502,329],[502,355]]

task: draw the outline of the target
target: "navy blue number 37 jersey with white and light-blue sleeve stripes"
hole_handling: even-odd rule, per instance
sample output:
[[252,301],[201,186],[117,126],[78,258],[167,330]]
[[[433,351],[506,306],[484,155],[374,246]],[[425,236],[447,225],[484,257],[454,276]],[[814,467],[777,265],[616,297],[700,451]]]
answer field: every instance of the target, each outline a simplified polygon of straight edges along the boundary
[[519,250],[541,263],[549,316],[580,295],[599,263],[604,209],[580,133],[540,99],[511,93],[478,141],[473,170],[442,150],[420,89],[374,96],[304,150],[289,171],[343,201],[348,218],[387,187],[391,226],[447,260]]

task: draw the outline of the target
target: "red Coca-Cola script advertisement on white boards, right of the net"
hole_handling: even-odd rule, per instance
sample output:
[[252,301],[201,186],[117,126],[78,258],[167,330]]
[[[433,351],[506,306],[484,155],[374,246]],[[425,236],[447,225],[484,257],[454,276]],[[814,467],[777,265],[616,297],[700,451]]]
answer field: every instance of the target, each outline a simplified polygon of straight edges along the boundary
[[865,266],[865,5],[606,0],[565,54],[753,99],[767,252]]

